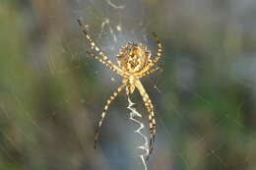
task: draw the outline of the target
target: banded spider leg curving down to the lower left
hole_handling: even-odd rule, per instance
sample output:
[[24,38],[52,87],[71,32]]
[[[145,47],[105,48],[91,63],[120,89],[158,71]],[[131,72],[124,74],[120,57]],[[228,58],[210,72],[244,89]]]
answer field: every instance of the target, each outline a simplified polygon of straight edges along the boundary
[[112,95],[106,100],[106,104],[104,106],[104,109],[99,117],[99,121],[98,121],[98,125],[97,125],[97,129],[96,129],[96,137],[95,137],[95,148],[96,148],[96,142],[98,141],[98,135],[99,135],[99,130],[102,126],[102,122],[104,120],[104,117],[105,117],[105,114],[106,114],[106,111],[108,109],[108,106],[109,104],[111,103],[111,101],[114,100],[114,98],[117,96],[117,94],[123,89],[123,87],[125,86],[126,84],[123,84],[121,86],[119,86],[113,93]]

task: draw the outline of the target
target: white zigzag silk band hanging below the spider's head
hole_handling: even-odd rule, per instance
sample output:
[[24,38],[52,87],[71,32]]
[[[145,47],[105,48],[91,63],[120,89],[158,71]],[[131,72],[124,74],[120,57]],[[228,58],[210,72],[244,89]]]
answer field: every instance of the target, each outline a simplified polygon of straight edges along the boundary
[[139,149],[142,149],[145,151],[145,153],[141,153],[139,156],[142,160],[142,163],[144,165],[145,170],[147,170],[147,164],[146,164],[146,160],[145,157],[149,155],[150,153],[150,149],[149,149],[149,142],[148,142],[148,138],[146,137],[146,135],[144,135],[142,133],[142,130],[145,128],[144,124],[142,122],[140,122],[138,119],[136,119],[136,117],[141,118],[142,115],[136,110],[136,108],[132,107],[135,103],[133,103],[130,99],[130,96],[128,95],[128,109],[131,110],[130,112],[130,120],[132,120],[133,122],[137,123],[140,125],[140,127],[134,131],[134,133],[139,134],[143,139],[144,139],[144,144],[138,146]]

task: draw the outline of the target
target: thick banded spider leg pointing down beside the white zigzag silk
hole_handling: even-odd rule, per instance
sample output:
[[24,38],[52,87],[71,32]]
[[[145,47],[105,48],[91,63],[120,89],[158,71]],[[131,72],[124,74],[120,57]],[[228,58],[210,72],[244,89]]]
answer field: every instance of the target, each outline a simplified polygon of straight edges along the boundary
[[141,84],[140,81],[137,81],[136,87],[138,88],[143,101],[145,103],[145,106],[149,112],[149,121],[150,121],[150,133],[151,133],[151,139],[150,139],[150,144],[149,144],[149,155],[147,157],[147,160],[149,159],[150,154],[152,153],[153,150],[153,142],[155,141],[155,134],[156,134],[156,119],[155,119],[155,113],[154,113],[154,106],[152,104],[152,101],[146,92],[145,88]]

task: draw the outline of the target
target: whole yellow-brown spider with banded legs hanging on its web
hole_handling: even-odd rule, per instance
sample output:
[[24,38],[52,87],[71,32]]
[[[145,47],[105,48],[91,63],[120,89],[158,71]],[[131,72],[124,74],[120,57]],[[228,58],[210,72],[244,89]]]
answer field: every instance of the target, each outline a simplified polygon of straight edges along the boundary
[[[150,143],[149,143],[149,155],[153,150],[153,142],[155,141],[156,134],[156,119],[154,113],[154,106],[152,101],[146,92],[144,86],[140,82],[140,79],[144,76],[147,76],[155,71],[160,70],[160,66],[155,66],[155,64],[159,61],[161,57],[161,43],[155,32],[153,32],[153,36],[158,43],[158,54],[154,59],[151,59],[151,51],[147,49],[147,46],[142,43],[135,42],[127,42],[125,47],[121,47],[119,49],[119,54],[115,56],[117,65],[113,64],[108,57],[96,46],[96,43],[91,38],[89,33],[87,32],[87,28],[82,25],[80,20],[77,20],[80,26],[80,29],[83,31],[86,39],[89,41],[91,49],[95,50],[99,57],[96,54],[87,51],[87,53],[95,58],[99,63],[106,66],[106,68],[112,70],[117,73],[119,76],[123,78],[122,85],[120,85],[112,95],[106,100],[106,103],[103,107],[103,111],[100,115],[96,136],[95,136],[95,148],[96,142],[98,141],[99,130],[102,126],[103,119],[106,115],[106,111],[108,109],[109,104],[117,94],[126,87],[126,94],[132,94],[134,89],[137,88],[142,96],[145,107],[149,113],[149,122],[150,122]],[[148,155],[148,158],[149,158]],[[147,158],[147,159],[148,159]]]

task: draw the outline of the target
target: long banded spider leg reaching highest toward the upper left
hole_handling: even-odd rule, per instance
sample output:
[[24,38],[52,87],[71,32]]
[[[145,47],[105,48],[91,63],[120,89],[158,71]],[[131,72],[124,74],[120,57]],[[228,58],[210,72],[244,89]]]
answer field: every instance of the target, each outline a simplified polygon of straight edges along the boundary
[[96,46],[96,43],[94,42],[94,40],[91,38],[91,36],[89,35],[89,33],[87,32],[86,30],[86,27],[82,24],[82,22],[80,20],[77,20],[78,21],[78,24],[79,24],[79,27],[80,29],[83,31],[85,37],[88,39],[90,45],[91,45],[91,48],[93,50],[96,50],[96,52],[98,52],[99,56],[104,60],[106,61],[109,65],[114,65],[108,58],[107,56]]

